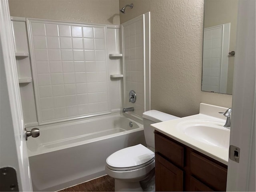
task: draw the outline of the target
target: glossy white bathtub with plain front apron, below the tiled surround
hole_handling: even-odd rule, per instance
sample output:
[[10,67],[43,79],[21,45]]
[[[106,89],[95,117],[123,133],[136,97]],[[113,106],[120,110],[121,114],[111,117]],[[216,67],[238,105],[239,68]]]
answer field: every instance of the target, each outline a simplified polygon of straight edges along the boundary
[[145,145],[142,120],[120,113],[37,128],[40,136],[27,141],[33,191],[58,191],[106,175],[110,154]]

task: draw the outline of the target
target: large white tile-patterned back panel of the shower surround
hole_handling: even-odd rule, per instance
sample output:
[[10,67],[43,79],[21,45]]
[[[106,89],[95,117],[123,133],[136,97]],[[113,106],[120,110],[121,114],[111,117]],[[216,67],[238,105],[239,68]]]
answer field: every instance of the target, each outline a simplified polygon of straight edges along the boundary
[[106,25],[27,23],[39,125],[110,113]]

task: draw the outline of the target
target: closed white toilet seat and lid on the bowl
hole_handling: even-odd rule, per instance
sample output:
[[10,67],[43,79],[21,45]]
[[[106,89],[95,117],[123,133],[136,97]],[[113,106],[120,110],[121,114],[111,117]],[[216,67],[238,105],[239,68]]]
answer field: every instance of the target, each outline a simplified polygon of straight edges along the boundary
[[154,162],[154,156],[154,152],[138,144],[114,152],[106,159],[106,166],[115,171],[135,170]]

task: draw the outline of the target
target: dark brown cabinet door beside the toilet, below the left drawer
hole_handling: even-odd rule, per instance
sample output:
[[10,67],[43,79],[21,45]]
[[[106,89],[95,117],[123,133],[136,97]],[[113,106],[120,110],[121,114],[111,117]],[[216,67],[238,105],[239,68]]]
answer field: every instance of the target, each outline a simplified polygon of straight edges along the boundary
[[155,154],[156,191],[183,191],[183,171]]

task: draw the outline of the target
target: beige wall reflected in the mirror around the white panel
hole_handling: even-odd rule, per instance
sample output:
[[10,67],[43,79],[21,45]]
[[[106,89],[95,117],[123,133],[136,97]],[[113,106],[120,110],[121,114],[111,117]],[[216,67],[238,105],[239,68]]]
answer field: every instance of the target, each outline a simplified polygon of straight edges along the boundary
[[[238,0],[205,0],[204,28],[230,23],[230,51],[236,48],[237,11]],[[228,94],[232,94],[234,60],[234,56],[228,59]]]

